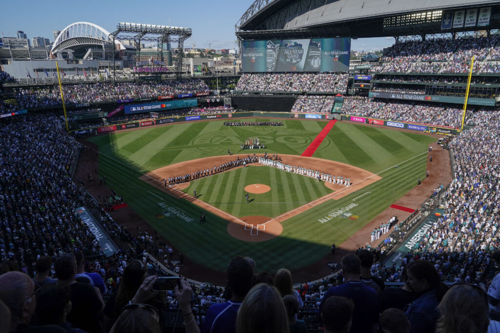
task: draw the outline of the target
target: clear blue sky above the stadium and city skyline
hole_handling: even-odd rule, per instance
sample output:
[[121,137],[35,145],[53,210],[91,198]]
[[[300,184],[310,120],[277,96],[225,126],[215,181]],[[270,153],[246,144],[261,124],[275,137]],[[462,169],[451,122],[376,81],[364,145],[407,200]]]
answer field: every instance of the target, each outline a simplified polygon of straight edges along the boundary
[[[91,22],[109,32],[115,30],[118,22],[133,22],[190,27],[192,37],[184,42],[184,47],[191,47],[194,42],[197,48],[208,48],[208,43],[211,48],[233,48],[236,40],[234,24],[252,2],[253,0],[1,1],[0,31],[5,37],[15,37],[16,31],[22,30],[29,39],[41,36],[53,41],[52,30],[62,30],[73,22]],[[352,40],[351,49],[379,50],[393,42],[393,38],[357,39]]]

